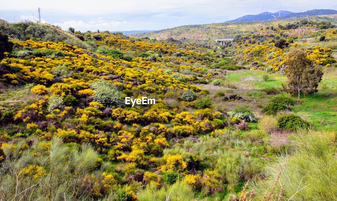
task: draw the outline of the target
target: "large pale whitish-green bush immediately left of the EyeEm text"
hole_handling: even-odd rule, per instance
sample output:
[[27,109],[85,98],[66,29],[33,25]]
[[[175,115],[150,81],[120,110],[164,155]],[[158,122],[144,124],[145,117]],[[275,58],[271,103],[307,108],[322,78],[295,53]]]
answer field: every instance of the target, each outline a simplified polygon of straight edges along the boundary
[[98,80],[90,83],[89,87],[94,90],[95,95],[92,96],[94,101],[104,106],[123,107],[124,100],[121,97],[117,87],[106,80]]

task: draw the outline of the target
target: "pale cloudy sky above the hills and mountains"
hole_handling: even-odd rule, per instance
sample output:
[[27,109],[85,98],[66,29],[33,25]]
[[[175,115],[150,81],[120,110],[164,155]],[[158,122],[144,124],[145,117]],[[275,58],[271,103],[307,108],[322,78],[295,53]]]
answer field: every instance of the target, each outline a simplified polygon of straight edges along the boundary
[[[7,22],[38,20],[84,31],[160,30],[191,24],[211,24],[244,15],[279,9],[303,12],[335,9],[336,0],[15,0],[0,3],[0,19]],[[33,17],[34,15],[34,17]],[[34,19],[33,19],[34,18]]]

